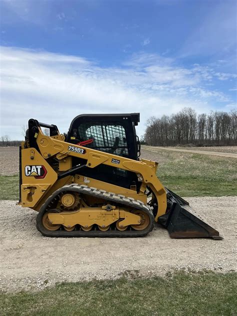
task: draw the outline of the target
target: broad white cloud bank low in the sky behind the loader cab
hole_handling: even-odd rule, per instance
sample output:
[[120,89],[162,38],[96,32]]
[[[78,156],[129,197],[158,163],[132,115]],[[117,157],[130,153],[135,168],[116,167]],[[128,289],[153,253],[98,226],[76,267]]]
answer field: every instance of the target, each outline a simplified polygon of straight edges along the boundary
[[21,137],[30,117],[64,132],[80,113],[137,111],[142,134],[150,115],[184,106],[206,112],[218,101],[231,103],[221,91],[207,88],[207,70],[142,52],[117,67],[101,67],[79,56],[2,46],[1,69],[0,134],[11,139]]

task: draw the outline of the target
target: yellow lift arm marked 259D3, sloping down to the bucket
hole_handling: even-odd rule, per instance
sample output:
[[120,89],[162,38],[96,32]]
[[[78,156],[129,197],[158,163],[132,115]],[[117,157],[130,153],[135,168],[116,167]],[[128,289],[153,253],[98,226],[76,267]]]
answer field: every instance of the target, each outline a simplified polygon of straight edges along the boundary
[[74,156],[84,159],[85,167],[88,168],[94,168],[99,164],[105,164],[135,172],[143,186],[149,185],[157,198],[158,211],[155,220],[157,221],[157,218],[165,213],[167,207],[166,191],[156,176],[157,162],[146,159],[132,160],[92,148],[74,145],[65,142],[64,136],[60,134],[46,136],[42,133],[40,128],[38,129],[36,142],[39,151],[45,160],[54,156],[58,160],[68,156]]

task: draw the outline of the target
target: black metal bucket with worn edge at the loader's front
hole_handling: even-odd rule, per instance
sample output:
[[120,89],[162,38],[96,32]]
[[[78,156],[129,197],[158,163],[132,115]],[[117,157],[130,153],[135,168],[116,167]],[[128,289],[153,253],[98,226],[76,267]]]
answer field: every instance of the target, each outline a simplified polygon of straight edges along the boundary
[[223,239],[217,230],[191,209],[187,201],[167,188],[166,190],[168,210],[164,215],[158,217],[158,223],[168,229],[171,238]]

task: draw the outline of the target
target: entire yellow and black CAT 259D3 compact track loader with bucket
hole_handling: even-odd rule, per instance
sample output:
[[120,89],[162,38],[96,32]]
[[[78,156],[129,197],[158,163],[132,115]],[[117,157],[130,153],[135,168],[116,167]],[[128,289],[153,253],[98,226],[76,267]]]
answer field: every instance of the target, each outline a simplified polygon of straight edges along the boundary
[[160,183],[157,162],[139,158],[138,122],[139,113],[84,114],[60,134],[29,119],[19,148],[19,204],[38,211],[43,235],[138,237],[156,221],[172,238],[221,239]]

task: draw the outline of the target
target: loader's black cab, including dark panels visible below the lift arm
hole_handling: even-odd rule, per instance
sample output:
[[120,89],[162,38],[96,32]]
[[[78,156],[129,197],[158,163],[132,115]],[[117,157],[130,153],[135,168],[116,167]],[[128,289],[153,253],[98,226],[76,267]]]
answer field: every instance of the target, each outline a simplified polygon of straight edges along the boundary
[[[70,124],[66,141],[138,160],[140,142],[135,126],[139,116],[139,113],[78,115]],[[72,167],[78,163],[83,164],[83,159],[72,157]],[[116,166],[100,164],[95,168],[81,169],[80,174],[126,188],[138,190],[140,186],[135,173]]]

